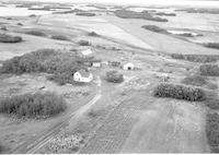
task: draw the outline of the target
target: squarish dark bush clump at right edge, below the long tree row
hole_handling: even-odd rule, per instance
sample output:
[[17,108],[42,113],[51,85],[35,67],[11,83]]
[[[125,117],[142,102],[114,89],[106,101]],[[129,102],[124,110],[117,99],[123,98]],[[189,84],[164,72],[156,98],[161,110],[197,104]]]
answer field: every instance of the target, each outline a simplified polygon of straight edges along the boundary
[[200,74],[207,76],[219,76],[219,67],[217,64],[201,64]]

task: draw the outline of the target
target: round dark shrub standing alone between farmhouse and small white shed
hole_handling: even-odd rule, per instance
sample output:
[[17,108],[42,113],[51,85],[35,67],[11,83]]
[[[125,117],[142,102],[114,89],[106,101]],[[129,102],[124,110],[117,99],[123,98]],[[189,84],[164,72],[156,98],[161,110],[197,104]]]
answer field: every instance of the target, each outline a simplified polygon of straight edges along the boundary
[[106,81],[113,82],[113,83],[120,83],[124,81],[124,76],[117,71],[108,71],[106,72]]

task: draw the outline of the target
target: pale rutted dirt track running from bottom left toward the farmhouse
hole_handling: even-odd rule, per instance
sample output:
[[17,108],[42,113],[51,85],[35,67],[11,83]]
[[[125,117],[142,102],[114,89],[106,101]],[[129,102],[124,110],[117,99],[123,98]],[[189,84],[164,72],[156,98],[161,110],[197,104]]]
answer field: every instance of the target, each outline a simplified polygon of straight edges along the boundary
[[67,115],[61,119],[61,121],[54,127],[49,128],[41,135],[31,139],[30,141],[16,146],[11,153],[27,153],[33,154],[42,146],[44,146],[55,134],[59,133],[62,128],[65,128],[68,122],[74,118],[77,119],[80,115],[87,111],[92,105],[94,105],[101,98],[101,94],[96,94],[92,100],[90,100],[87,105],[80,107],[77,111],[73,111],[70,115]]

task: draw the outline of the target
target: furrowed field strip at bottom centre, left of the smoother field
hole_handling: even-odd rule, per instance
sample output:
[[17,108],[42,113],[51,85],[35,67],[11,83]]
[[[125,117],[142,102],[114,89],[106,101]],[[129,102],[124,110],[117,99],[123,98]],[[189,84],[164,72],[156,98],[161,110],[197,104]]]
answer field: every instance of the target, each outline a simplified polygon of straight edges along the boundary
[[[128,138],[143,100],[130,104],[128,100],[120,103],[106,118],[105,122],[95,131],[95,134],[84,145],[81,154],[112,154],[118,153]],[[132,102],[131,102],[132,103]]]

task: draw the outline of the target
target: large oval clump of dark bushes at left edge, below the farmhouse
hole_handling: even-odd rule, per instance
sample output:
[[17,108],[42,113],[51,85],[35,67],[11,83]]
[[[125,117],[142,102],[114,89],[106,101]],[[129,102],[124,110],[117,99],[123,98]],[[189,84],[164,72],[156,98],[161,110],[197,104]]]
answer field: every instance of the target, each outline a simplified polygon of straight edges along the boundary
[[0,112],[15,115],[19,118],[49,117],[64,111],[66,107],[64,98],[49,92],[24,94],[0,100]]

